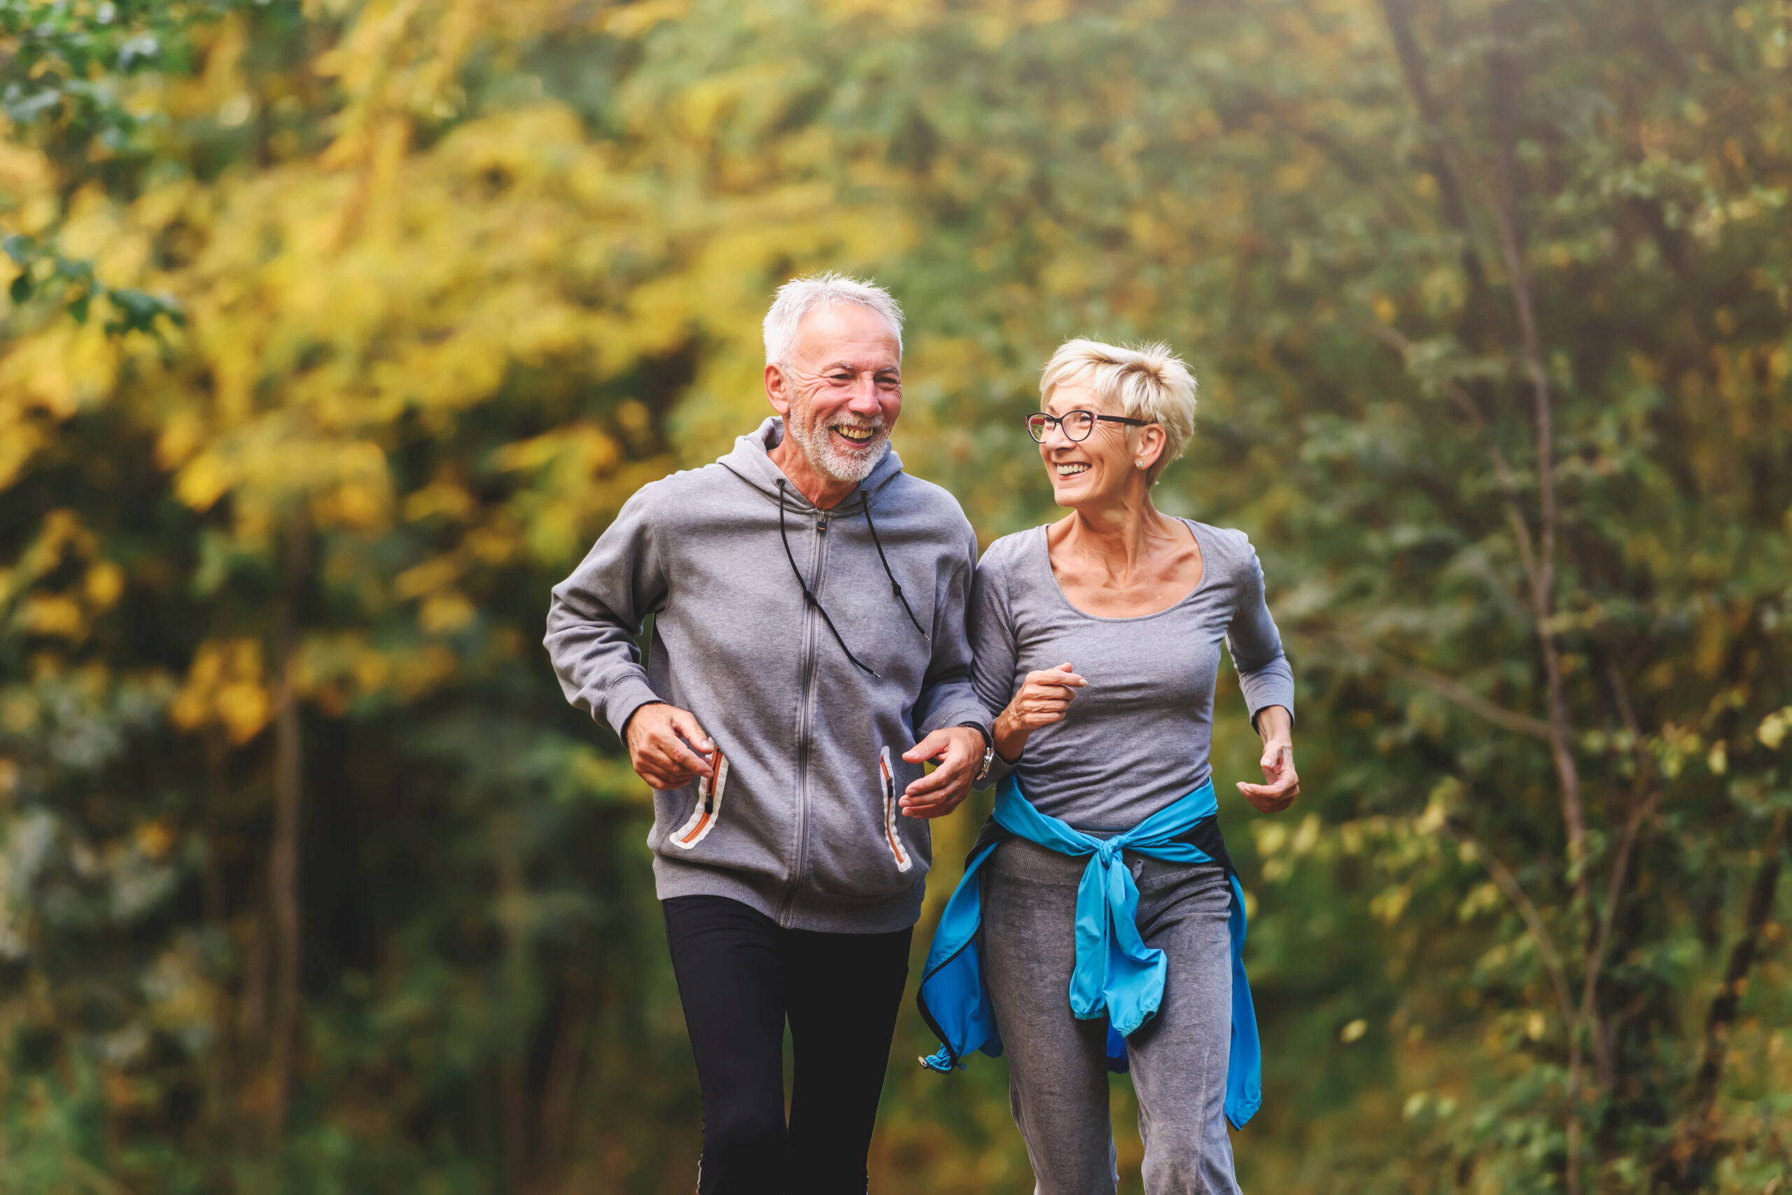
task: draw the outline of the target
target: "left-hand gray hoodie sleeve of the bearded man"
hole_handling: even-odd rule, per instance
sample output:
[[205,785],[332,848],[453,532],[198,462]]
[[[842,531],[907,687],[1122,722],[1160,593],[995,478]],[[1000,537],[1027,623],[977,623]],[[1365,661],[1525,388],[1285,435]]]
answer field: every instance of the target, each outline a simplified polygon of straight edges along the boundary
[[609,722],[618,736],[636,709],[661,701],[634,640],[665,598],[649,486],[624,503],[572,577],[554,586],[543,640],[566,701]]

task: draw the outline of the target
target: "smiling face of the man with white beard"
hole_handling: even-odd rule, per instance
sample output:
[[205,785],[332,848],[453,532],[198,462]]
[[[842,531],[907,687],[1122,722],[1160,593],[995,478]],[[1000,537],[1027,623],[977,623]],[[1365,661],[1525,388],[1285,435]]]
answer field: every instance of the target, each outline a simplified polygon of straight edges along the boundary
[[772,405],[810,466],[835,482],[867,478],[901,414],[901,346],[883,317],[858,303],[817,306],[780,373]]

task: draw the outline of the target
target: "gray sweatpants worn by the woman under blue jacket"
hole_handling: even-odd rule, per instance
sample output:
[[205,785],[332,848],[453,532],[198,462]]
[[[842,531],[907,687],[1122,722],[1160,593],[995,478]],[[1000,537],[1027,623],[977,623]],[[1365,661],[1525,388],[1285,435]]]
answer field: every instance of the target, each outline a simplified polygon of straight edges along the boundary
[[[1025,840],[989,860],[984,982],[1009,1057],[1014,1123],[1036,1195],[1113,1195],[1107,1021],[1070,1012],[1077,881],[1086,858]],[[1238,1195],[1226,1136],[1231,1052],[1231,885],[1211,864],[1127,856],[1138,928],[1168,957],[1163,1003],[1127,1039],[1147,1195]]]

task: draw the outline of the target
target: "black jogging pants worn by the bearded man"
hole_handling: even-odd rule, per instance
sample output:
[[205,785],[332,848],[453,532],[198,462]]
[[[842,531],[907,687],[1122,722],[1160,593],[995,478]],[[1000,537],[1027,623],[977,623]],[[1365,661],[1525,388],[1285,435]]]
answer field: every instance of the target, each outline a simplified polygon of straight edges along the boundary
[[785,930],[724,896],[661,905],[702,1086],[699,1195],[864,1195],[914,930]]

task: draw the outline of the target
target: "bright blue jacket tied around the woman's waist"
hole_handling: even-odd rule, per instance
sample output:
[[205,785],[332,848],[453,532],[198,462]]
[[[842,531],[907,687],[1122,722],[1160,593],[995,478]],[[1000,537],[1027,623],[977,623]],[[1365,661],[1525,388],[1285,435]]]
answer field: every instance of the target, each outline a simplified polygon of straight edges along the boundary
[[1208,781],[1127,833],[1095,838],[1041,813],[1021,795],[1012,776],[1004,779],[996,788],[993,826],[986,828],[964,862],[964,880],[946,901],[934,946],[926,951],[918,1003],[921,1016],[939,1034],[941,1046],[932,1057],[921,1059],[921,1064],[950,1071],[962,1066],[971,1050],[991,1057],[1002,1053],[1002,1034],[984,987],[977,941],[984,919],[982,880],[977,873],[1004,840],[1020,837],[1059,855],[1090,856],[1077,885],[1077,966],[1070,975],[1070,1010],[1079,1019],[1107,1018],[1109,1070],[1125,1070],[1125,1037],[1156,1016],[1163,1003],[1167,969],[1163,951],[1147,948],[1138,933],[1138,885],[1133,883],[1124,853],[1170,864],[1220,864],[1233,887],[1233,1016],[1226,1120],[1235,1129],[1244,1129],[1263,1104],[1263,1066],[1251,985],[1244,975],[1244,890],[1220,844],[1217,815],[1219,803],[1213,783]]

